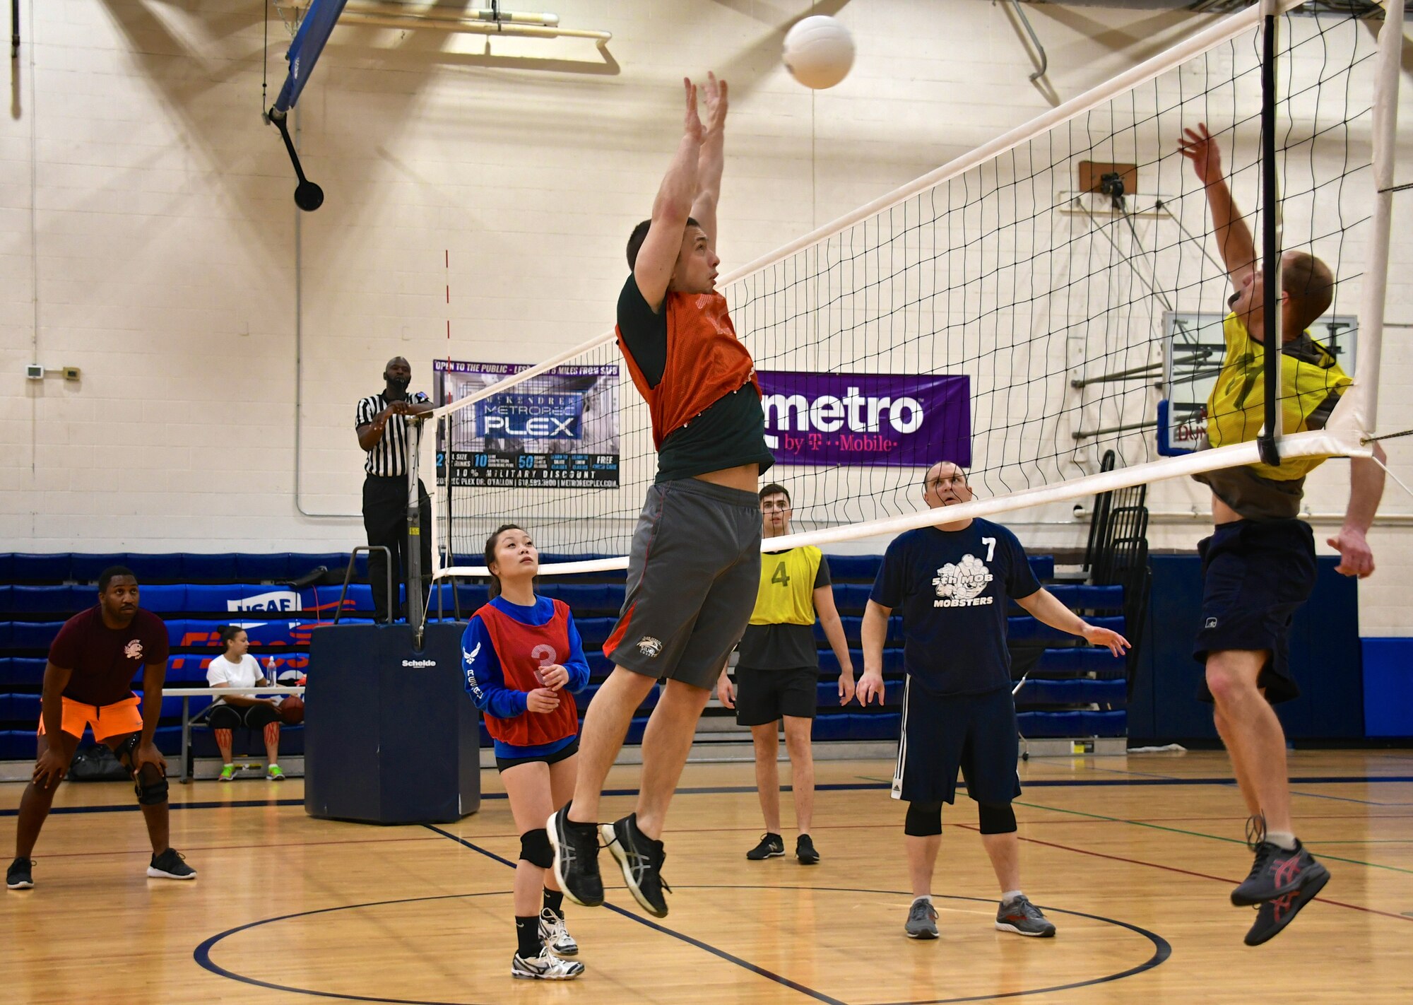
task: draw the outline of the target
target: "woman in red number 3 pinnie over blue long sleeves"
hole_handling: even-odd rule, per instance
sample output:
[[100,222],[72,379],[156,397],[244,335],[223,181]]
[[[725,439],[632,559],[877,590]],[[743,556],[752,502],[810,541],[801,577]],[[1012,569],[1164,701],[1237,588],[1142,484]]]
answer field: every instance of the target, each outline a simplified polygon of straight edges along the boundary
[[486,541],[486,568],[492,599],[466,625],[462,673],[496,742],[496,769],[520,831],[510,974],[568,981],[584,964],[562,958],[579,947],[564,924],[544,823],[574,794],[579,714],[572,693],[588,686],[589,662],[569,605],[534,592],[540,553],[524,530],[497,529]]

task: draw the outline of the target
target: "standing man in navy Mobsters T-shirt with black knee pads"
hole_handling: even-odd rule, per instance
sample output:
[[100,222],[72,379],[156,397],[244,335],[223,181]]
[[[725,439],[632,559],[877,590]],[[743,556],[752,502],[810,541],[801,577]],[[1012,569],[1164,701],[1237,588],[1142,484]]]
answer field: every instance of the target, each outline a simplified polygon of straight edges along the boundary
[[[934,464],[923,482],[931,509],[969,502],[966,472]],[[1016,705],[1010,693],[1006,609],[1015,601],[1036,619],[1078,635],[1115,656],[1129,643],[1095,628],[1040,587],[1026,551],[991,520],[965,519],[899,534],[883,556],[863,612],[859,703],[883,704],[883,639],[894,609],[903,613],[903,735],[893,799],[907,800],[903,833],[913,882],[909,939],[937,939],[931,885],[942,842],[942,803],[957,799],[957,769],[976,800],[981,840],[1002,899],[996,927],[1053,936],[1056,926],[1020,889],[1020,841],[1010,801],[1020,794]]]

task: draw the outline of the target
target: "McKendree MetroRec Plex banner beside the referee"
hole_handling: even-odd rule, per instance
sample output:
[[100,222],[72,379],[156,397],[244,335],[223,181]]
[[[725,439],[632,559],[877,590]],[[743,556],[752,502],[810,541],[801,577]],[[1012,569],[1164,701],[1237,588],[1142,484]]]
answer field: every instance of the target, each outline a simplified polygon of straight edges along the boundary
[[[527,363],[434,360],[445,404],[528,369]],[[451,418],[437,442],[437,481],[456,488],[617,488],[619,368],[557,366]]]

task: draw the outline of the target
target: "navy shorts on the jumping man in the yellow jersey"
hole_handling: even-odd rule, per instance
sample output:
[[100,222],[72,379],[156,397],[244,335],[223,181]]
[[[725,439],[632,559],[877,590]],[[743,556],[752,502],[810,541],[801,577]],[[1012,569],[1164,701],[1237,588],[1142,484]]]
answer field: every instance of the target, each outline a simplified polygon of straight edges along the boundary
[[[1316,537],[1304,520],[1224,523],[1197,546],[1202,619],[1193,659],[1224,649],[1266,650],[1256,686],[1276,704],[1300,694],[1290,676],[1290,623],[1316,587]],[[1197,697],[1211,701],[1202,678]]]

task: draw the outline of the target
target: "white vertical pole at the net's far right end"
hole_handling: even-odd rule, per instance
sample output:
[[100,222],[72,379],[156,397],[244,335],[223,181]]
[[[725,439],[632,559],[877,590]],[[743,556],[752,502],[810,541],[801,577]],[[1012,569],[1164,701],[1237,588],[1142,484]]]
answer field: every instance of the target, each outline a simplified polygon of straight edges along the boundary
[[1373,79],[1373,232],[1369,269],[1359,304],[1359,369],[1354,387],[1330,417],[1331,428],[1372,437],[1379,423],[1379,358],[1383,349],[1383,304],[1389,280],[1389,232],[1393,219],[1393,157],[1399,126],[1403,55],[1403,0],[1379,0],[1383,27]]

